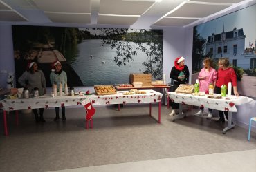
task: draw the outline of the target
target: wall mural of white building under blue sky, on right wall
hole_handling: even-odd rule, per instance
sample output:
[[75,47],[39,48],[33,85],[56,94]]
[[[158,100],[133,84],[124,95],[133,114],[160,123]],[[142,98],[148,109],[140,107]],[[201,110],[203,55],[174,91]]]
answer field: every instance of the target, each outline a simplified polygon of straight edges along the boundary
[[239,94],[256,97],[256,5],[194,27],[192,83],[203,58],[229,58],[237,74]]

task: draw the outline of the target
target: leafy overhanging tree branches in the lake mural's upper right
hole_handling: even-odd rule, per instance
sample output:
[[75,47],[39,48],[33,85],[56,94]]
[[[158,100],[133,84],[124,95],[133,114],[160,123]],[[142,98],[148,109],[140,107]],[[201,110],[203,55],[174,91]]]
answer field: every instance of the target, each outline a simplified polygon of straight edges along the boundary
[[[163,30],[128,30],[128,29],[100,29],[102,46],[110,45],[116,49],[115,63],[127,65],[134,60],[138,50],[147,54],[147,61],[143,62],[145,74],[152,74],[155,79],[162,79],[163,69]],[[138,46],[134,46],[134,43]]]

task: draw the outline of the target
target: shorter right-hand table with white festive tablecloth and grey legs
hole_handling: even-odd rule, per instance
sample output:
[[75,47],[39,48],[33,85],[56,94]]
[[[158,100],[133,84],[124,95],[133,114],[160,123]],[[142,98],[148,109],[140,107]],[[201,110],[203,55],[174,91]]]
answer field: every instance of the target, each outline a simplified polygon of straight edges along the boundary
[[[226,133],[229,129],[235,126],[232,124],[232,112],[237,112],[237,106],[243,105],[253,101],[253,99],[246,96],[230,96],[224,98],[208,98],[209,95],[196,96],[192,94],[183,94],[176,92],[168,92],[172,102],[179,103],[179,115],[174,116],[174,120],[183,118],[182,105],[194,105],[198,107],[206,107],[221,111],[228,111],[228,126],[223,129],[223,133]],[[220,94],[214,94],[214,96],[220,96]]]

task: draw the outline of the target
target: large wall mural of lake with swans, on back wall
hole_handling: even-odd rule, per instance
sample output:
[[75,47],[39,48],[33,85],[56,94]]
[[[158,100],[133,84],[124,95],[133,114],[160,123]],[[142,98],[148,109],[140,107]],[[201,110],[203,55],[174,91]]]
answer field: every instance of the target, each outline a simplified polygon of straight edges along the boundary
[[12,26],[15,72],[37,61],[46,75],[59,60],[69,86],[129,83],[130,73],[162,79],[163,30]]

